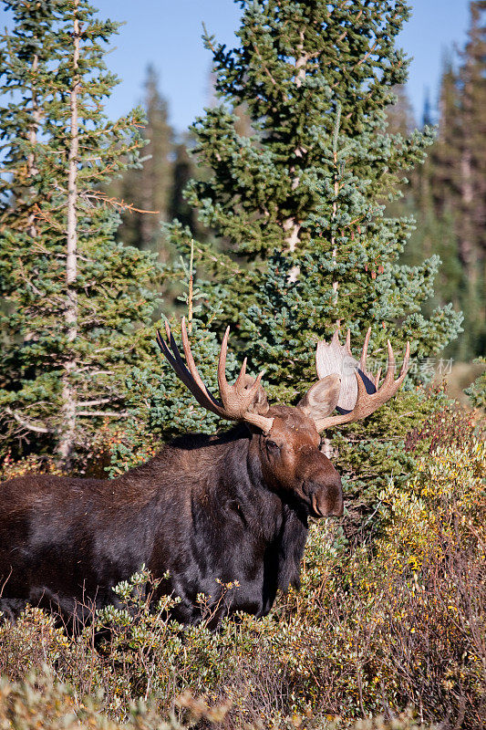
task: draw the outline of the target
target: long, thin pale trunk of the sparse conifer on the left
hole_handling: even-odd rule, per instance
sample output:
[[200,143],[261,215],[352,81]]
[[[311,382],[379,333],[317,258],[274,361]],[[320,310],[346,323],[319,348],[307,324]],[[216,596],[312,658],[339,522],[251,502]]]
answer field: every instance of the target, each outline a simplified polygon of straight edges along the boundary
[[[76,279],[78,276],[78,62],[79,62],[79,23],[77,16],[78,0],[75,0],[75,17],[73,32],[73,80],[70,93],[71,129],[68,155],[67,179],[67,257],[66,257],[66,309],[65,324],[67,330],[67,346],[74,342],[78,335],[78,292]],[[69,350],[68,350],[69,352]],[[72,376],[76,370],[76,357],[72,351],[64,365],[62,379],[62,434],[59,443],[59,455],[65,469],[69,469],[76,433],[76,389]]]

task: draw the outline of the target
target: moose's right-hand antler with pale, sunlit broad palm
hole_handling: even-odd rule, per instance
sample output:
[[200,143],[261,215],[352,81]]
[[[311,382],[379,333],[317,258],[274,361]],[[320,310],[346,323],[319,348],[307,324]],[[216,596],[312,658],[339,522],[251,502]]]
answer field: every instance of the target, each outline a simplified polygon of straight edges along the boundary
[[393,349],[388,339],[388,368],[385,380],[378,388],[381,370],[378,370],[377,376],[373,377],[366,370],[367,364],[367,346],[371,328],[367,330],[367,336],[361,352],[359,362],[353,358],[350,347],[351,335],[349,329],[346,335],[346,345],[343,346],[339,342],[339,335],[336,332],[329,345],[321,340],[317,343],[315,352],[315,368],[319,380],[325,378],[326,375],[337,373],[341,377],[341,391],[337,408],[342,412],[337,416],[326,416],[316,422],[317,431],[323,431],[330,426],[338,426],[342,423],[351,423],[366,418],[371,413],[392,398],[398,388],[405,380],[408,370],[408,358],[410,354],[410,345],[407,342],[405,356],[400,374],[395,380],[396,363],[393,355]]

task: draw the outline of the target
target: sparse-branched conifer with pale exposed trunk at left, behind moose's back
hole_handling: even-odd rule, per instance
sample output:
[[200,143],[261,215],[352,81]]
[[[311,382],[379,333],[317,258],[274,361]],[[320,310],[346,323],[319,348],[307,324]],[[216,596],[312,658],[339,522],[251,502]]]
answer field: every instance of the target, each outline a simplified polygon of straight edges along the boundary
[[116,243],[116,203],[100,192],[137,162],[142,111],[103,113],[116,23],[86,0],[4,5],[15,27],[0,37],[2,442],[56,448],[69,468],[101,422],[124,417],[125,375],[151,350],[160,266]]

